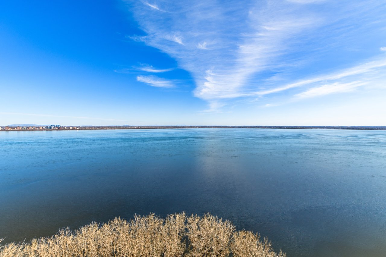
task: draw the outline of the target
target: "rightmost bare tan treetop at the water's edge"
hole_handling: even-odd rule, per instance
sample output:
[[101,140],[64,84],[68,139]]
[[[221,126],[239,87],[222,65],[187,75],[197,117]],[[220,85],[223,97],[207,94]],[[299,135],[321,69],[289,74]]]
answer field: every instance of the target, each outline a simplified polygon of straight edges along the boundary
[[233,240],[230,244],[230,250],[234,257],[285,257],[280,250],[279,254],[276,254],[272,249],[271,242],[268,238],[260,240],[258,233],[254,234],[251,231],[238,231],[233,234]]

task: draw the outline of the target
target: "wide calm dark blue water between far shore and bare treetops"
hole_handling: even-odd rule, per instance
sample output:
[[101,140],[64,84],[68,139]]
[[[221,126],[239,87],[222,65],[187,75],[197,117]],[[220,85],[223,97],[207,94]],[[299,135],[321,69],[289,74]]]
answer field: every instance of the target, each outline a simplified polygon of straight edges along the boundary
[[210,212],[288,256],[385,256],[386,131],[0,132],[0,237]]

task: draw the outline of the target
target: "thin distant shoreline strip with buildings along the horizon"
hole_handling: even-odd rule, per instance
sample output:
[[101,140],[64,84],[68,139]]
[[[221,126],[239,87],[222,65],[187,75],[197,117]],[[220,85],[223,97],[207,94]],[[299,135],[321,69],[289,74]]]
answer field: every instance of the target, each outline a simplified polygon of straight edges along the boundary
[[62,126],[53,129],[1,129],[0,131],[61,131],[61,130],[108,130],[108,129],[171,129],[171,128],[276,128],[276,129],[339,129],[339,130],[386,130],[386,126]]

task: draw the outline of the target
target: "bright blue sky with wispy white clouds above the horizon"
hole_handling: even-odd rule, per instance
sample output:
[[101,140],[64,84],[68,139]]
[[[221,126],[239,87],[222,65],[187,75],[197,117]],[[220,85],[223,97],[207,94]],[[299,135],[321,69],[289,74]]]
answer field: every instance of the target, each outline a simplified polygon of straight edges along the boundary
[[2,1],[0,125],[386,125],[386,1]]

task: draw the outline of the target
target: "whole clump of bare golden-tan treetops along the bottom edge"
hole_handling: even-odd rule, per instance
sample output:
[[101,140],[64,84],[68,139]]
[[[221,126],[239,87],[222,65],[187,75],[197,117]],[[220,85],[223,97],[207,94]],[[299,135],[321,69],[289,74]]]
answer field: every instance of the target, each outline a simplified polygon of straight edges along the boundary
[[235,232],[229,220],[175,213],[167,218],[134,215],[127,221],[91,222],[75,231],[63,228],[52,237],[0,246],[0,257],[284,257],[267,238]]

